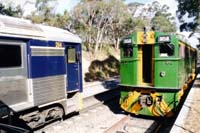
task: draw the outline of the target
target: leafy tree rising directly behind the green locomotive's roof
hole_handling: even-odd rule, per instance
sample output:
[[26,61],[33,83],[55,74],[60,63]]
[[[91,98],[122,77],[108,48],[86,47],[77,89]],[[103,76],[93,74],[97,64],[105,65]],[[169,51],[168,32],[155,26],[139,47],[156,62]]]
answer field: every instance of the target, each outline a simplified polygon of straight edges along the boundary
[[172,14],[169,13],[169,7],[162,6],[158,1],[143,7],[138,18],[144,20],[145,27],[149,30],[153,28],[163,32],[176,31],[176,23]]

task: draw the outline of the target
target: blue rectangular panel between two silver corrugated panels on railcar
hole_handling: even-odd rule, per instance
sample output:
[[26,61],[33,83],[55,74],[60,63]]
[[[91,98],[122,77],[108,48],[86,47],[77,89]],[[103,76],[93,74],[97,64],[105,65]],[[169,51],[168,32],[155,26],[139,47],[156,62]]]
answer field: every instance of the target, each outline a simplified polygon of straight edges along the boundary
[[63,56],[33,56],[31,57],[31,78],[66,74],[65,58]]

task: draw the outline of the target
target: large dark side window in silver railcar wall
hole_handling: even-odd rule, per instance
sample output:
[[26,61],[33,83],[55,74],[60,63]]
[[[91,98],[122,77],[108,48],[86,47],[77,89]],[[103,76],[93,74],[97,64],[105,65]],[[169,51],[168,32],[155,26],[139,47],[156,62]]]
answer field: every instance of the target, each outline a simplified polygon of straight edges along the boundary
[[20,67],[21,47],[17,45],[0,45],[0,68]]

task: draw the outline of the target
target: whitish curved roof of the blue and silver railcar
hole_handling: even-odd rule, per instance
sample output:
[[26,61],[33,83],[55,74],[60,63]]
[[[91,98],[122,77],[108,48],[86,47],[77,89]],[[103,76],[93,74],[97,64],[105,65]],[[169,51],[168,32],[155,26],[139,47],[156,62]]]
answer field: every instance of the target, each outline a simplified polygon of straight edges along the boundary
[[0,15],[0,36],[81,43],[77,35],[67,30],[4,15]]

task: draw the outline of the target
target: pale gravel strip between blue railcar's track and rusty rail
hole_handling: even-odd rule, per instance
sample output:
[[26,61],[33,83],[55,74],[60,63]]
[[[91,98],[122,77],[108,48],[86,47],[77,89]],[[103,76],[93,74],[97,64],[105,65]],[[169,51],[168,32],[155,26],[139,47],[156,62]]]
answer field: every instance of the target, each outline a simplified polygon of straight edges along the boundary
[[[114,103],[115,105],[116,103]],[[112,104],[97,106],[57,125],[37,131],[37,133],[102,133],[125,115]],[[113,108],[114,107],[114,108]]]

